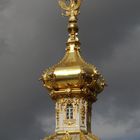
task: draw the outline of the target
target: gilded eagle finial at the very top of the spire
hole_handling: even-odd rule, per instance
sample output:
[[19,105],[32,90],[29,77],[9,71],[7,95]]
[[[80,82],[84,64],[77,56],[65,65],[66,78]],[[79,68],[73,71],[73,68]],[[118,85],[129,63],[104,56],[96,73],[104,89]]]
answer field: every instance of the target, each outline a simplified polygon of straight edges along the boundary
[[66,11],[65,16],[78,16],[82,0],[59,0],[60,7]]

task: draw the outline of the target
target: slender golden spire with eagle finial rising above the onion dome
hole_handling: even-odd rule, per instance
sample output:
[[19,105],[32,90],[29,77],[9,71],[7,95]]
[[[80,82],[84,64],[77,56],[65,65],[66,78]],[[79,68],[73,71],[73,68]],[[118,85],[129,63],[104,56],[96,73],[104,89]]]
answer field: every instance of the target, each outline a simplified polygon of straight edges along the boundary
[[62,15],[69,17],[67,49],[79,49],[77,16],[80,13],[81,0],[59,0],[59,5],[65,12]]

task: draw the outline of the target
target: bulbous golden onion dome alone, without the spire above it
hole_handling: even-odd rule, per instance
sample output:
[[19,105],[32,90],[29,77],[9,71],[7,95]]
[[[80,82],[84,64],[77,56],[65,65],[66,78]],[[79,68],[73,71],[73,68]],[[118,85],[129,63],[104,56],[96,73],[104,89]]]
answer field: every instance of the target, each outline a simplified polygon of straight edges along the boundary
[[66,50],[64,58],[58,64],[44,71],[42,81],[52,97],[56,97],[58,93],[85,93],[96,100],[96,95],[105,86],[102,75],[94,65],[83,60],[75,46]]

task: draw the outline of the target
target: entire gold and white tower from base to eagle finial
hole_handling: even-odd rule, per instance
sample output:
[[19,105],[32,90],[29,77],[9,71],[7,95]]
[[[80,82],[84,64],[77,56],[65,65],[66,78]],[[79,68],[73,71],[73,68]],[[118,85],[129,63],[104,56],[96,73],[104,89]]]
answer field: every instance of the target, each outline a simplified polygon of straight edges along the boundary
[[91,134],[92,104],[105,87],[105,80],[94,65],[80,55],[77,16],[82,0],[59,0],[63,15],[69,17],[66,53],[41,80],[55,102],[56,128],[44,140],[97,140]]

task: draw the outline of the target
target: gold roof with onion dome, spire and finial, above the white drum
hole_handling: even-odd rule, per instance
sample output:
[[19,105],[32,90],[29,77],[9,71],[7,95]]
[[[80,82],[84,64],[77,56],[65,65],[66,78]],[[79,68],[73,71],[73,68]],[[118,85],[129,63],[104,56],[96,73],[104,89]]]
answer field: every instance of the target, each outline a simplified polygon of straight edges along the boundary
[[66,11],[65,15],[69,16],[66,53],[58,64],[44,71],[41,80],[53,99],[80,94],[96,101],[105,81],[97,68],[85,62],[80,55],[77,16],[81,0],[70,0],[69,5],[64,1],[60,0],[59,4]]

